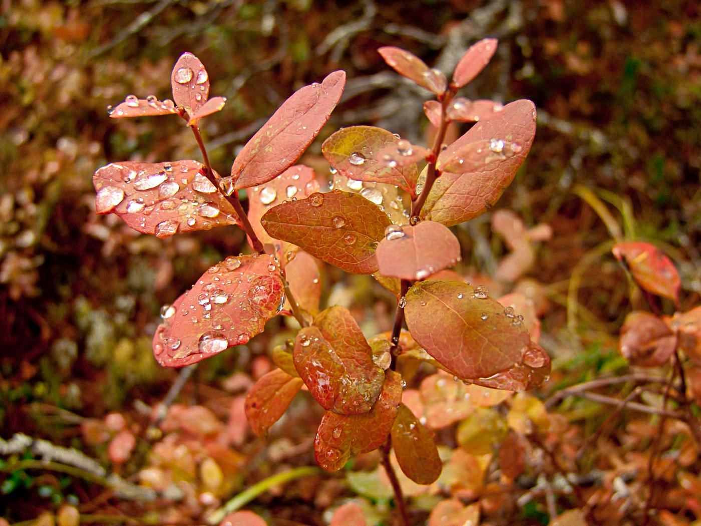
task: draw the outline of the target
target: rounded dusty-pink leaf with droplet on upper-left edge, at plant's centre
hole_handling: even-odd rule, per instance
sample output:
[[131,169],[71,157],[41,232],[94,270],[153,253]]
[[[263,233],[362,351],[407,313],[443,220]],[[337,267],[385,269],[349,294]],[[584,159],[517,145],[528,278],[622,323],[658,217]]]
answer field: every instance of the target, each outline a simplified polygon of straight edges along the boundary
[[380,274],[423,280],[460,261],[460,243],[442,224],[423,221],[415,227],[390,225],[377,246]]

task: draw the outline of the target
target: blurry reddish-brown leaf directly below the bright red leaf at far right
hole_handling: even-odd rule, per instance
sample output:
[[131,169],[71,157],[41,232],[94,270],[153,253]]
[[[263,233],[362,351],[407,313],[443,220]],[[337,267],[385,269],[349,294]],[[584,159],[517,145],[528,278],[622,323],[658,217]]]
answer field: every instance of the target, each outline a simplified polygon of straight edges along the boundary
[[661,318],[643,311],[628,313],[620,330],[618,349],[633,365],[659,367],[676,348],[676,335]]

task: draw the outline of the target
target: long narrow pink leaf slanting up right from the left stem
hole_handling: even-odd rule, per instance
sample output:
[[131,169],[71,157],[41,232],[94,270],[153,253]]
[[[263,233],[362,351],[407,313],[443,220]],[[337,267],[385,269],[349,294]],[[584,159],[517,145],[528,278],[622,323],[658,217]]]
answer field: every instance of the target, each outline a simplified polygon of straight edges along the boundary
[[285,100],[233,161],[233,186],[264,184],[292,166],[329,120],[345,86],[346,73],[337,71]]

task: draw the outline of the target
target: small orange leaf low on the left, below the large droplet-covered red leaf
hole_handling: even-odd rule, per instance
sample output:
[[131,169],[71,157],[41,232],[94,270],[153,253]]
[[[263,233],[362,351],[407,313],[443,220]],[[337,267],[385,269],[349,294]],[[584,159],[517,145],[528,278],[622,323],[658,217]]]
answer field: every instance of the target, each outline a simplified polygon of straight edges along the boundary
[[246,417],[258,436],[266,436],[268,428],[283,416],[292,398],[302,387],[300,378],[274,369],[261,376],[246,396]]

